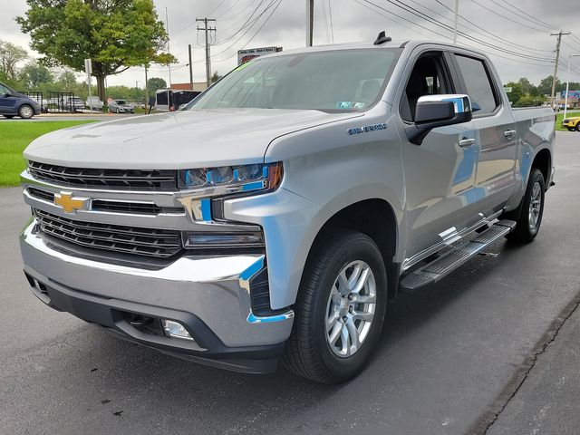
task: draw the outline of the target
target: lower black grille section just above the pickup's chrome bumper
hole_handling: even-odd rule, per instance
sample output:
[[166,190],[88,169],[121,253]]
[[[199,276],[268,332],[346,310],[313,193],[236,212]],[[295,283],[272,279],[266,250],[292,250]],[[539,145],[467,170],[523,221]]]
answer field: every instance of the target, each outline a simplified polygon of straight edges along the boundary
[[136,256],[168,258],[181,252],[179,231],[72,220],[34,209],[44,234],[74,245]]

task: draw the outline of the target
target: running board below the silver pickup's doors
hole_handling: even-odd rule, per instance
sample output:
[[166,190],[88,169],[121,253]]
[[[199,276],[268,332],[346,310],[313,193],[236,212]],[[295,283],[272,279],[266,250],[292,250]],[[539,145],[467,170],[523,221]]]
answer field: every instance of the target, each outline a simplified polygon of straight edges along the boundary
[[458,247],[453,247],[425,266],[420,266],[420,268],[402,276],[401,292],[412,293],[420,287],[436,283],[465,264],[469,258],[477,256],[479,252],[498,238],[507,235],[514,227],[516,227],[516,222],[513,220],[500,220],[485,231],[476,234],[469,241]]

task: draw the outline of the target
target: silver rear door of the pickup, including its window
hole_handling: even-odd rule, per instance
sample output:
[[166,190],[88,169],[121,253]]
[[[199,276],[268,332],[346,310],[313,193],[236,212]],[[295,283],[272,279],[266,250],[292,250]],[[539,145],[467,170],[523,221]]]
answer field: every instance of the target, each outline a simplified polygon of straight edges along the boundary
[[454,53],[461,92],[473,106],[478,167],[474,195],[486,215],[503,208],[516,187],[517,130],[491,64],[473,53]]

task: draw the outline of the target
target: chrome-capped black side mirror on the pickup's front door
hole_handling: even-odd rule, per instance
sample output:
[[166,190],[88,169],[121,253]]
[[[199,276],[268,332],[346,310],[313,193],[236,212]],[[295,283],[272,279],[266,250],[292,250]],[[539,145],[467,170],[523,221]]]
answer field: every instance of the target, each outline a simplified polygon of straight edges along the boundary
[[461,94],[424,95],[415,107],[415,123],[405,128],[411,143],[420,145],[436,127],[471,121],[469,96]]

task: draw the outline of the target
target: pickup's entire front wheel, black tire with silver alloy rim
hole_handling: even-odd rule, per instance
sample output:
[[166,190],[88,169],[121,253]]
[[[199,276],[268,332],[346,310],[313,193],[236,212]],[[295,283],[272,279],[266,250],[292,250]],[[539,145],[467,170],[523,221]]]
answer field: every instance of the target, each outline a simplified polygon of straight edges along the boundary
[[372,238],[346,229],[324,234],[304,269],[285,367],[315,382],[352,378],[379,340],[386,302],[386,270]]

